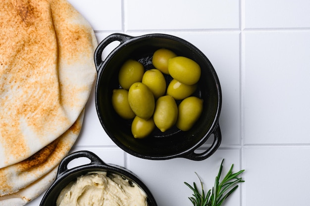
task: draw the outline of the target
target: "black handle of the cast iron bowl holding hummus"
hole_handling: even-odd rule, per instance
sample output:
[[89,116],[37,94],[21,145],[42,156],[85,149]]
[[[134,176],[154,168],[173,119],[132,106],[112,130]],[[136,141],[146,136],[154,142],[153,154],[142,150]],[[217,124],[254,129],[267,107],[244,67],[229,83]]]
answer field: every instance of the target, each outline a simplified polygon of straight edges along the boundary
[[86,165],[106,165],[97,155],[90,151],[77,151],[74,152],[68,156],[66,156],[59,164],[58,170],[57,170],[57,176],[56,178],[60,177],[61,175],[68,173],[72,169],[68,169],[68,164],[76,159],[76,158],[88,158],[91,163]]

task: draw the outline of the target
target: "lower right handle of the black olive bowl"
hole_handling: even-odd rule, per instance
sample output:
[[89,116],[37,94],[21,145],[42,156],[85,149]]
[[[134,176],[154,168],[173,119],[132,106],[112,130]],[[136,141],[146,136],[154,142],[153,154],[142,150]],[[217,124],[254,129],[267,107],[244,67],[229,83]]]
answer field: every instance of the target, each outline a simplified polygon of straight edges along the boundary
[[195,150],[192,150],[188,153],[182,155],[183,158],[187,158],[190,160],[201,161],[210,157],[219,147],[222,140],[221,130],[219,128],[219,124],[217,124],[213,130],[214,140],[211,145],[205,152],[203,153],[195,153]]

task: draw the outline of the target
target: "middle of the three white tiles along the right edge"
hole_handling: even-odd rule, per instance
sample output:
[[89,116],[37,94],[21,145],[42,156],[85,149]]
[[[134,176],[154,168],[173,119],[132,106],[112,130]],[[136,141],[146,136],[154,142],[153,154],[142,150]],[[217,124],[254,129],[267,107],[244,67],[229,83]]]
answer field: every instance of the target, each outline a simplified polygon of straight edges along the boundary
[[245,143],[310,143],[310,32],[245,38]]

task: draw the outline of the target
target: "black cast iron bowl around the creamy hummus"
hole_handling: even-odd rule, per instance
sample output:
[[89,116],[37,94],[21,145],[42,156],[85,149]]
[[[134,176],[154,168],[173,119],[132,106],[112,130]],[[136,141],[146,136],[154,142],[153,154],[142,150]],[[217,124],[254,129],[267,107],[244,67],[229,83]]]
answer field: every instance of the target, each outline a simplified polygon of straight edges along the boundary
[[[88,158],[91,163],[71,169],[67,168],[68,164],[72,160],[81,157]],[[94,171],[104,171],[123,176],[138,185],[146,193],[148,206],[157,206],[150,190],[133,172],[118,165],[106,164],[97,155],[90,151],[78,151],[72,153],[61,161],[58,167],[56,180],[44,194],[40,206],[56,206],[56,200],[65,186],[67,186],[70,182],[75,181],[77,177]]]

